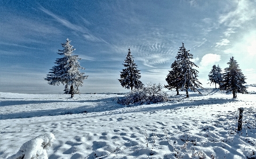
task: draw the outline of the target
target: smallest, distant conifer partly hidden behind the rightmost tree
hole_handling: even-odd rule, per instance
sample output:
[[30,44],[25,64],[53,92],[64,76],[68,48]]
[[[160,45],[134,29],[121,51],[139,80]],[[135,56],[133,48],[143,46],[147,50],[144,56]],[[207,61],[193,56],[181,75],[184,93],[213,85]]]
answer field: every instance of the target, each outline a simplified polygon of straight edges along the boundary
[[[216,83],[220,86],[221,82],[222,82],[222,70],[220,68],[220,66],[216,66],[215,64],[212,66],[212,70],[211,72],[209,73],[208,77],[209,77],[209,80],[210,80],[210,85],[211,83],[214,83],[215,84],[215,88],[216,87]],[[209,84],[207,83],[207,84]]]

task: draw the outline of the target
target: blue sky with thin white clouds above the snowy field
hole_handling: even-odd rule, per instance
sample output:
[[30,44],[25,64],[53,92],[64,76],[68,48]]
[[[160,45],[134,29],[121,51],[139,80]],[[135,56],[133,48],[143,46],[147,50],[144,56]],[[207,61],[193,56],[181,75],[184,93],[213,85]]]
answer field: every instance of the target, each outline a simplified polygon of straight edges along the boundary
[[81,93],[123,93],[131,48],[143,83],[166,85],[182,42],[207,85],[212,65],[235,57],[256,83],[256,1],[0,1],[0,86],[4,92],[63,93],[44,80],[67,38],[88,75]]

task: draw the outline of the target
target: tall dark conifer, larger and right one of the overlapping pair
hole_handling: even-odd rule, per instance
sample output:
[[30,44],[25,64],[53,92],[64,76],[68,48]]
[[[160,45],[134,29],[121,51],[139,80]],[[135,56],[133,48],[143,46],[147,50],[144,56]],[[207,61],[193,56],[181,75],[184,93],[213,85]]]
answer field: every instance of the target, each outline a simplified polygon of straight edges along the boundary
[[198,71],[193,69],[193,66],[196,66],[197,68],[198,66],[194,62],[190,61],[190,59],[193,59],[193,55],[186,50],[184,43],[182,43],[182,46],[177,53],[176,59],[180,70],[178,77],[181,77],[179,80],[177,79],[177,86],[180,87],[181,90],[186,90],[187,97],[189,97],[189,88],[200,93],[197,88],[203,88],[201,86],[202,83],[197,79]]

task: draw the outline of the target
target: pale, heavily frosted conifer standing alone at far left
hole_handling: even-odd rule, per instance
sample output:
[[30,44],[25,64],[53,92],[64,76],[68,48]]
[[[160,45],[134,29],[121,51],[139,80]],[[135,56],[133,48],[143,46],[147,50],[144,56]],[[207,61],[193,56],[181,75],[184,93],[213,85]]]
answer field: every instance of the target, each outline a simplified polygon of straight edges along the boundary
[[[50,74],[47,74],[45,80],[49,81],[50,85],[60,85],[62,83],[65,85],[65,93],[71,94],[70,88],[74,87],[74,94],[80,94],[78,87],[83,86],[83,80],[88,76],[84,76],[84,73],[81,73],[79,69],[85,69],[80,66],[78,60],[78,55],[71,55],[75,48],[70,45],[70,40],[67,39],[66,43],[61,43],[63,50],[59,50],[59,55],[63,56],[57,58],[55,66],[52,67]],[[70,87],[69,87],[70,86]]]

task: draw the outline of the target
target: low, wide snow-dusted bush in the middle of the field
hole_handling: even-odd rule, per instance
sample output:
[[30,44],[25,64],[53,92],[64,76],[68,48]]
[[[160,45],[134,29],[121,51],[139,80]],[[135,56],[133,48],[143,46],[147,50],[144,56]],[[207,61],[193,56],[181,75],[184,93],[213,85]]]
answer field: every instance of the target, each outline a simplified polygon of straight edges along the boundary
[[163,86],[159,83],[148,83],[147,87],[141,87],[134,89],[121,99],[117,100],[117,103],[122,105],[142,105],[167,101],[167,93],[163,91]]

